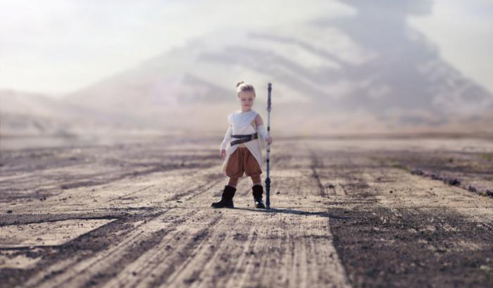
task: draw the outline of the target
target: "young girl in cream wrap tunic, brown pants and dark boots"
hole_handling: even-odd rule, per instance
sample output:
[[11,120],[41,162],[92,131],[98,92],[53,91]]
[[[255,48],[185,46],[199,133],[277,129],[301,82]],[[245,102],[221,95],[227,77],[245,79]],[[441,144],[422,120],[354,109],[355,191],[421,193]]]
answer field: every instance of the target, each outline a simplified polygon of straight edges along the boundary
[[272,143],[273,139],[267,136],[261,116],[251,110],[256,96],[254,86],[241,81],[236,87],[241,110],[227,116],[229,127],[220,144],[221,157],[225,158],[221,173],[229,177],[229,180],[220,201],[213,203],[212,206],[233,208],[232,199],[235,196],[238,180],[245,173],[247,177],[251,177],[255,207],[266,208],[262,201],[263,187],[260,176],[262,153],[259,137],[266,140],[268,144]]

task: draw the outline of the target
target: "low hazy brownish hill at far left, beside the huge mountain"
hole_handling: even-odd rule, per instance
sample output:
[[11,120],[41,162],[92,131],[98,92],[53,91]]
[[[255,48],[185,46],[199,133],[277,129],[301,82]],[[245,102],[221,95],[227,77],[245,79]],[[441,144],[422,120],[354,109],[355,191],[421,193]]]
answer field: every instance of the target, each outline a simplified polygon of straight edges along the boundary
[[4,137],[71,137],[139,128],[145,127],[125,123],[120,115],[71,104],[66,99],[0,89],[0,134]]

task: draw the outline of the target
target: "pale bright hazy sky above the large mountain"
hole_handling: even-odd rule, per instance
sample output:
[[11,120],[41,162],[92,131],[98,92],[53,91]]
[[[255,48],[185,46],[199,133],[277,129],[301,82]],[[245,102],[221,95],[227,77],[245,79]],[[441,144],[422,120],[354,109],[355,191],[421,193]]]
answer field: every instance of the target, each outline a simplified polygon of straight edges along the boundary
[[[58,96],[218,28],[351,13],[326,0],[0,0],[0,87]],[[493,92],[493,1],[436,0],[409,23]]]

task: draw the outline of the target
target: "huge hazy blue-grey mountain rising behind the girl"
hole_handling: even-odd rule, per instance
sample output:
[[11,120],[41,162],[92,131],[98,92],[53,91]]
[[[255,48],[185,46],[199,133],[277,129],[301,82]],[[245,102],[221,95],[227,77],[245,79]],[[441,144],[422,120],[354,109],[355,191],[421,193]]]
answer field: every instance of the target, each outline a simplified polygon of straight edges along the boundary
[[491,92],[406,23],[408,15],[430,13],[431,1],[344,3],[356,13],[258,30],[225,27],[61,101],[86,109],[69,115],[113,130],[220,132],[239,108],[235,84],[245,80],[256,87],[254,110],[264,120],[273,83],[271,124],[279,133],[492,129]]

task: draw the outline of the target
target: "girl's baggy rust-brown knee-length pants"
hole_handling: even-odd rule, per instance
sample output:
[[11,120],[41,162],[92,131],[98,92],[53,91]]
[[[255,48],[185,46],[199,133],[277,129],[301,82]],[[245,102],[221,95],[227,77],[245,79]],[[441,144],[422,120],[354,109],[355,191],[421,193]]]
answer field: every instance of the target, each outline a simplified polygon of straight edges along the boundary
[[239,177],[251,177],[251,182],[254,184],[261,183],[262,169],[258,165],[254,155],[252,155],[247,147],[239,146],[230,155],[226,164],[226,175],[230,177],[228,185],[236,187]]

